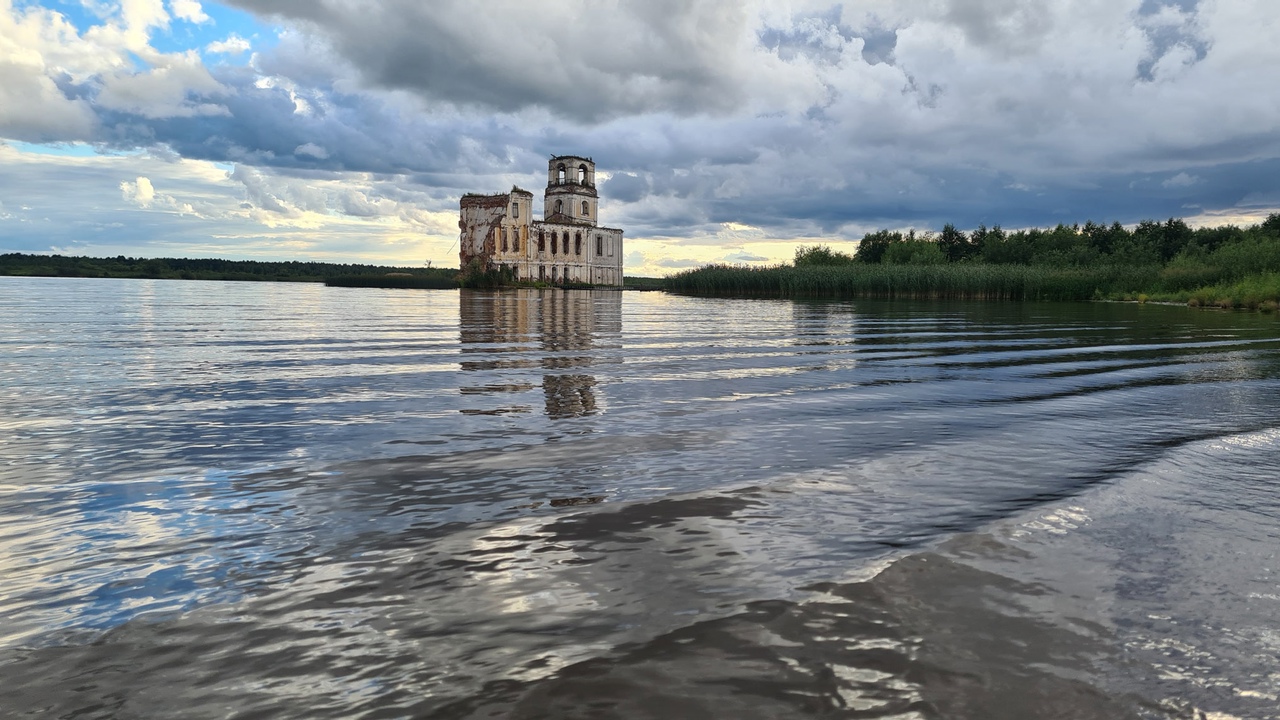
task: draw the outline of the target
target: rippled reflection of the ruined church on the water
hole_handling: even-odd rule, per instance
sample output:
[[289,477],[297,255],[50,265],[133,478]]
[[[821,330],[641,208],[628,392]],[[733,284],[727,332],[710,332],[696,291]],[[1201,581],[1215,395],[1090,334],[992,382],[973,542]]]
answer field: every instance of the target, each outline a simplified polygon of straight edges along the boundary
[[472,415],[530,413],[516,398],[534,391],[540,374],[543,402],[553,419],[599,413],[603,398],[593,365],[620,345],[622,295],[617,291],[507,290],[461,292],[462,369],[476,380],[465,396],[506,397],[511,404],[462,411]]

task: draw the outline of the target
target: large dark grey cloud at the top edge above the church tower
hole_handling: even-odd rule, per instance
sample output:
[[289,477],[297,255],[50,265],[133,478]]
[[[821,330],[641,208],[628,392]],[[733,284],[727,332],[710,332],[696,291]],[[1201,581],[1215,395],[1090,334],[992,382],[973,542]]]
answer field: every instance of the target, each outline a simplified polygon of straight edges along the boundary
[[745,96],[724,61],[746,22],[736,0],[230,4],[305,23],[378,86],[463,105],[599,119],[724,110]]

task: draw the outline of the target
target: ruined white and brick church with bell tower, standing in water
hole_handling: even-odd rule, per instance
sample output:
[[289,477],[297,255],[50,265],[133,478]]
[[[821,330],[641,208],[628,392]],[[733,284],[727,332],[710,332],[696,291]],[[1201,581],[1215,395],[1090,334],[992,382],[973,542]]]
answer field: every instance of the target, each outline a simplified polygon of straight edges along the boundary
[[622,231],[596,223],[595,163],[562,155],[547,165],[543,219],[534,193],[462,196],[458,251],[462,266],[507,269],[520,281],[622,286]]

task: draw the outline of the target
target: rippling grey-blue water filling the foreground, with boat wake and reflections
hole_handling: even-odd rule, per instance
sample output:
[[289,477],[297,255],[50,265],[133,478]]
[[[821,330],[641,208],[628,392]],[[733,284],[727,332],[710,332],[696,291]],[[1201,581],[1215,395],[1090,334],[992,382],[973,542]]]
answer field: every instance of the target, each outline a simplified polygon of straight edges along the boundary
[[0,716],[1280,717],[1280,320],[0,278]]

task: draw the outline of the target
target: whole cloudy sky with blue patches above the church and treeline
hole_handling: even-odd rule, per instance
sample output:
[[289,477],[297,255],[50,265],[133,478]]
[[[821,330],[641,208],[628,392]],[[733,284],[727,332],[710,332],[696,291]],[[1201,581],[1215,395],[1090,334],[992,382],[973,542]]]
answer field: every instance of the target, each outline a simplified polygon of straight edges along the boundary
[[1275,0],[0,0],[0,251],[457,263],[593,156],[627,273],[1280,209]]

